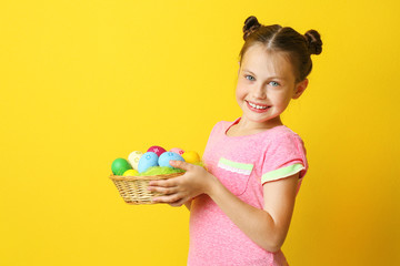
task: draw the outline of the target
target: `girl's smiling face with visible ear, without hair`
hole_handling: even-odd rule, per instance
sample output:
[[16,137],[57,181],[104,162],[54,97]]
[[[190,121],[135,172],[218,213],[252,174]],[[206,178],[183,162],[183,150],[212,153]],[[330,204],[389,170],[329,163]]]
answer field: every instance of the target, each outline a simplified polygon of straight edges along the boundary
[[246,52],[238,76],[237,101],[243,111],[241,122],[249,127],[281,125],[280,114],[306,90],[308,80],[296,84],[289,59],[283,52],[268,52],[254,44]]

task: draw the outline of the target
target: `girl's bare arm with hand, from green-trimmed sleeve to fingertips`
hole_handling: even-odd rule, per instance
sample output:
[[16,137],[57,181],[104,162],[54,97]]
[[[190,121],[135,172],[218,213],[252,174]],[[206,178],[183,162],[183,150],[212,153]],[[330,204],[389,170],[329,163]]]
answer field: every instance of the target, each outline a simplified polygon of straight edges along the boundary
[[[151,181],[149,190],[163,196],[153,202],[181,206],[200,194],[208,194],[224,214],[256,244],[268,252],[278,252],[282,246],[292,216],[299,173],[263,185],[264,208],[256,208],[236,195],[203,167],[170,161],[174,167],[184,168],[181,176]],[[187,206],[188,207],[188,206]]]

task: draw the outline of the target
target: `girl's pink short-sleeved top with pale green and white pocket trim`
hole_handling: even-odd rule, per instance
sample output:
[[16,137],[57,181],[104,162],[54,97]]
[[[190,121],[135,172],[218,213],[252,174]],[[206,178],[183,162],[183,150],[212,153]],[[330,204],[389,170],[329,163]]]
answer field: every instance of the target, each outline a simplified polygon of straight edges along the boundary
[[[267,182],[300,172],[299,192],[308,170],[300,136],[286,125],[251,135],[226,135],[240,119],[213,126],[202,158],[207,170],[241,201],[260,209]],[[288,265],[281,250],[270,253],[258,246],[206,194],[192,201],[189,228],[189,266]]]

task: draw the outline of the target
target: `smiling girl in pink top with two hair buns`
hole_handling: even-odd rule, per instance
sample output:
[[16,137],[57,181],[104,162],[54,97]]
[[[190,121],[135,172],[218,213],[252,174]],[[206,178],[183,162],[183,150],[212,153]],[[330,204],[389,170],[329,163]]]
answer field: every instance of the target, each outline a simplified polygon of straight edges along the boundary
[[241,117],[218,122],[203,167],[171,161],[186,174],[150,183],[154,202],[190,211],[188,265],[288,265],[281,246],[308,170],[300,136],[280,114],[308,85],[310,54],[320,34],[261,25],[249,17],[239,54],[237,101]]

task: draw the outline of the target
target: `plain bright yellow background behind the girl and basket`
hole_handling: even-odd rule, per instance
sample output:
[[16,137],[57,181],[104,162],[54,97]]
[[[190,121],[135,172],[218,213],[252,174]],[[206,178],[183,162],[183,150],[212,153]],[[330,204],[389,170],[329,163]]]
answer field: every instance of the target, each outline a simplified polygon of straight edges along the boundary
[[0,265],[186,265],[189,212],[126,204],[111,162],[203,153],[234,99],[241,28],[316,29],[283,123],[309,172],[291,265],[398,265],[400,7],[381,1],[1,1]]

